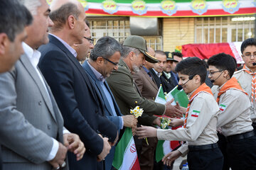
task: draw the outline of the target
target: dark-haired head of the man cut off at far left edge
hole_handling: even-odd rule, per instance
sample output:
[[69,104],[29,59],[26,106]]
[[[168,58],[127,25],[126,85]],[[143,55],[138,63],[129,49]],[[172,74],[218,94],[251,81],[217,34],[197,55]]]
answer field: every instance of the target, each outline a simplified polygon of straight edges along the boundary
[[[31,21],[31,14],[25,6],[18,4],[16,0],[0,1],[0,74],[9,71],[21,54],[23,54],[21,42],[26,38],[26,30],[24,27],[31,24]],[[2,134],[0,135],[3,137]],[[4,139],[1,138],[1,140]],[[1,169],[0,145],[0,170]]]

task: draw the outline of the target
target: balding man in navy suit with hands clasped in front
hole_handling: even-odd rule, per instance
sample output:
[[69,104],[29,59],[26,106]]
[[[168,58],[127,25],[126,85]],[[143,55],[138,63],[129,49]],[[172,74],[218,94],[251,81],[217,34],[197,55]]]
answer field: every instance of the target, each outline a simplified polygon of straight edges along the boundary
[[[42,57],[38,66],[53,89],[65,127],[77,133],[86,147],[79,162],[68,154],[70,169],[94,170],[97,160],[102,161],[110,152],[110,144],[117,141],[117,128],[103,116],[102,103],[71,47],[82,43],[89,29],[82,4],[75,0],[52,3],[50,18],[54,26],[50,31],[50,42],[39,48]],[[103,169],[103,165],[98,168]]]

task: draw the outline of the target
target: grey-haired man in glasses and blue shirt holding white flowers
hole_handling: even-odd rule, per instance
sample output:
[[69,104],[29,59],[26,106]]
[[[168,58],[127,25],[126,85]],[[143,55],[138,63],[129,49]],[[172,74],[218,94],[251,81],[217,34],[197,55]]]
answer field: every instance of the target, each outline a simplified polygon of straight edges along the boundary
[[[93,87],[97,94],[99,94],[99,98],[104,103],[105,115],[117,126],[117,130],[122,130],[123,127],[136,128],[137,125],[137,119],[134,115],[122,115],[107,81],[105,81],[113,70],[118,69],[117,64],[119,63],[121,53],[122,45],[117,40],[103,37],[97,41],[97,44],[90,53],[90,59],[82,64],[82,67],[90,76],[92,84],[94,84]],[[112,169],[113,159],[114,147],[112,147],[110,154],[105,158],[105,169]]]

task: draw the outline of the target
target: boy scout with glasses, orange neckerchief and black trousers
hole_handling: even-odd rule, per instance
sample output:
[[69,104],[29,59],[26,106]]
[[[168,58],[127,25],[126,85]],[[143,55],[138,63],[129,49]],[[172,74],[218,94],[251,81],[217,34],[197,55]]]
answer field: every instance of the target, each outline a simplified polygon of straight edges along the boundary
[[227,140],[225,159],[232,169],[255,169],[256,137],[250,120],[250,100],[238,80],[232,77],[235,72],[233,57],[220,53],[210,57],[208,65],[208,77],[218,86],[216,99],[220,114],[217,128],[221,128]]

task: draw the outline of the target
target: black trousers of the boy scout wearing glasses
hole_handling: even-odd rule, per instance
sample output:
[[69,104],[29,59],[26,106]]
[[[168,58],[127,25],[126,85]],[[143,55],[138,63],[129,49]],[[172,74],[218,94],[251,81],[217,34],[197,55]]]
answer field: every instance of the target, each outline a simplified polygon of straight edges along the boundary
[[256,137],[228,142],[228,162],[232,170],[256,169]]

